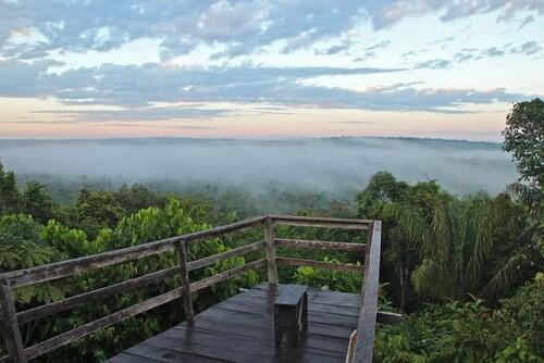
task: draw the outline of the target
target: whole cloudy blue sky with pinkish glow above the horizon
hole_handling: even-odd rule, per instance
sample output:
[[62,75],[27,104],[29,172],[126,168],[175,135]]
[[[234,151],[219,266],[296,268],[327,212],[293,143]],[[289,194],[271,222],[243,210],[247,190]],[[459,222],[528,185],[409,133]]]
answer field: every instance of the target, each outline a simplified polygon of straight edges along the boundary
[[500,141],[542,0],[0,0],[0,138]]

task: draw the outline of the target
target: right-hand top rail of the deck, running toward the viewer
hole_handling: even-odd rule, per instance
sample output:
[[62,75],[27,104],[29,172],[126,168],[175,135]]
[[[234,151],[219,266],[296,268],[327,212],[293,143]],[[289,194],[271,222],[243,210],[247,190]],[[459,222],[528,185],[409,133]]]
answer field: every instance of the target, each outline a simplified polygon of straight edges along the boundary
[[369,230],[369,252],[362,287],[362,303],[357,326],[354,362],[371,363],[374,350],[378,293],[380,289],[380,253],[382,223],[374,221]]

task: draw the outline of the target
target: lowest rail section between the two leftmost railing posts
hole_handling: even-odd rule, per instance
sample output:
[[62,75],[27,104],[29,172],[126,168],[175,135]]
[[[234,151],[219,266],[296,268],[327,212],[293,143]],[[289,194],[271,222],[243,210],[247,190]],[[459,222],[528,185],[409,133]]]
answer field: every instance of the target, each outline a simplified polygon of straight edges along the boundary
[[182,297],[182,289],[177,288],[169,292],[159,295],[149,300],[143,301],[129,308],[120,310],[113,314],[101,317],[91,323],[82,325],[70,331],[60,334],[48,340],[44,340],[35,346],[25,349],[25,353],[28,359],[34,359],[36,356],[42,355],[53,349],[65,346],[72,341],[82,339],[97,330],[103,329],[110,325],[122,322],[125,318],[141,314],[148,310],[165,304],[166,302],[173,301]]

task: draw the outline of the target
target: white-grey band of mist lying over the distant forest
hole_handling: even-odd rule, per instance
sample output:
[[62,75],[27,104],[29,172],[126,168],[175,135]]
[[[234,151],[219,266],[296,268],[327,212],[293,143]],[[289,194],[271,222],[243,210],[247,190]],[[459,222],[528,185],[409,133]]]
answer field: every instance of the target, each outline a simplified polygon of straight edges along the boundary
[[0,158],[27,176],[170,180],[249,192],[361,190],[378,171],[408,182],[435,179],[457,195],[496,193],[517,179],[499,143],[416,138],[0,140]]

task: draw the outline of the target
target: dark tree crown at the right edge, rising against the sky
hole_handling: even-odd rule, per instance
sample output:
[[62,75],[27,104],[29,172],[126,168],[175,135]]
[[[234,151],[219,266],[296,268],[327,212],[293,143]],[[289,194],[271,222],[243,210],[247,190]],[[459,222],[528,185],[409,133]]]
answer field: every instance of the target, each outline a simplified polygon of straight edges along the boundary
[[536,188],[544,182],[544,101],[514,104],[506,116],[504,149],[512,152],[521,178]]

